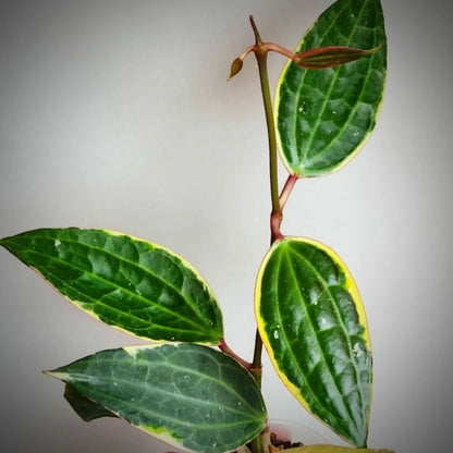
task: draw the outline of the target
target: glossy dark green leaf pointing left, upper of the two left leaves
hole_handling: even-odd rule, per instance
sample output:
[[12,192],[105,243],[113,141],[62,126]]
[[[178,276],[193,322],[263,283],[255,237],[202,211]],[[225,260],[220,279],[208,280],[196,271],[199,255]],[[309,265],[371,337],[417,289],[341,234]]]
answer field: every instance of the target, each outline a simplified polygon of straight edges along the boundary
[[219,344],[220,309],[201,277],[155,244],[105,230],[42,229],[0,240],[77,307],[155,341]]

